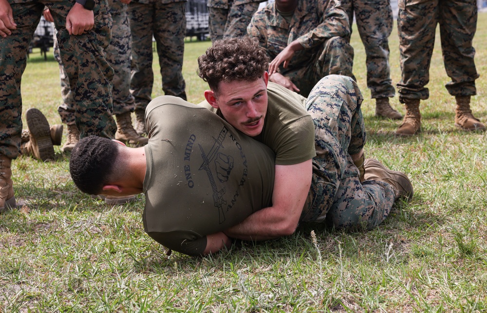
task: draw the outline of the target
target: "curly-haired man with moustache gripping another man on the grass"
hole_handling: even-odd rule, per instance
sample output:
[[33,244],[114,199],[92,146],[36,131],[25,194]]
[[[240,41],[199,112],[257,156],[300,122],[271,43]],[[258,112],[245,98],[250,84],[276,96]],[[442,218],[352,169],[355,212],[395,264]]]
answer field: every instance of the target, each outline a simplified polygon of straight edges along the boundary
[[210,88],[202,105],[276,153],[272,205],[226,235],[272,239],[294,233],[300,221],[371,229],[399,197],[411,200],[404,173],[364,163],[363,97],[353,79],[326,76],[306,99],[269,82],[268,62],[250,37],[218,40],[198,58]]

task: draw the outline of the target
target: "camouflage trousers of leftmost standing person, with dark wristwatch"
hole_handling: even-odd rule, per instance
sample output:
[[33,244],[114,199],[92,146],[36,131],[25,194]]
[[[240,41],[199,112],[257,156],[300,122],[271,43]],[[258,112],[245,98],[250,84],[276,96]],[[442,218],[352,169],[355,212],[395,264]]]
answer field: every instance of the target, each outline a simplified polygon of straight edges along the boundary
[[81,136],[112,138],[116,131],[112,117],[113,70],[103,52],[110,41],[112,18],[106,1],[97,1],[94,29],[83,35],[70,36],[65,23],[74,3],[75,0],[11,3],[17,30],[0,39],[0,153],[9,158],[19,154],[22,131],[20,80],[27,63],[27,49],[44,5],[49,7],[58,30],[57,39],[70,77],[76,125]]

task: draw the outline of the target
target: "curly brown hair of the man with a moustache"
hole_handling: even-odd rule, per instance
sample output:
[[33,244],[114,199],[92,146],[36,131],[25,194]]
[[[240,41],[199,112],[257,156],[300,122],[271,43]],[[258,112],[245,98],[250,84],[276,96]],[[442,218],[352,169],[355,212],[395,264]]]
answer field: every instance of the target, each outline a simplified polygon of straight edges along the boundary
[[226,37],[216,40],[198,58],[198,65],[198,75],[217,92],[221,81],[254,81],[262,77],[269,67],[269,57],[255,37]]

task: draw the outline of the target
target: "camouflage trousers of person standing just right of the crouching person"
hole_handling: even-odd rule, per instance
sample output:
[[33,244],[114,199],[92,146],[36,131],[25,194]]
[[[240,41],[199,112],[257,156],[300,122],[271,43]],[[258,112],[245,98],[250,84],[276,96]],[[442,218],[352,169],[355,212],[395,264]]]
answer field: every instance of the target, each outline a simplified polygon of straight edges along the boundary
[[393,97],[389,65],[389,36],[393,30],[391,1],[342,0],[341,3],[350,20],[350,33],[355,12],[358,33],[367,55],[367,87],[372,98]]

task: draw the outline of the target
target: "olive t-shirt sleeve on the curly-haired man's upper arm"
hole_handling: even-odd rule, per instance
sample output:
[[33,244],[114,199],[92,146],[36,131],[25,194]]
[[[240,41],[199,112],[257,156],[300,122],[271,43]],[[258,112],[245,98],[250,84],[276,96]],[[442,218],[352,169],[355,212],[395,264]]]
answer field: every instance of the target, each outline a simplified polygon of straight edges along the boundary
[[293,121],[275,138],[276,165],[299,164],[316,156],[315,128],[310,115]]

